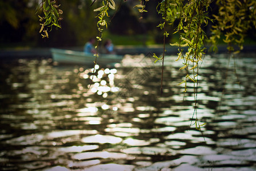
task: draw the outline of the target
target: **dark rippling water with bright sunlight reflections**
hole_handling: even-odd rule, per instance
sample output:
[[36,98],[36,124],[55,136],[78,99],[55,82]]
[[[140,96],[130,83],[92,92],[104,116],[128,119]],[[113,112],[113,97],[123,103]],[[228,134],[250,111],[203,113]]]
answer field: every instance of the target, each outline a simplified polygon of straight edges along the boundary
[[228,55],[205,57],[203,136],[191,122],[193,83],[184,96],[175,58],[165,61],[163,95],[161,68],[145,56],[99,68],[90,89],[84,66],[2,60],[1,170],[256,170],[256,55],[238,55],[235,67]]

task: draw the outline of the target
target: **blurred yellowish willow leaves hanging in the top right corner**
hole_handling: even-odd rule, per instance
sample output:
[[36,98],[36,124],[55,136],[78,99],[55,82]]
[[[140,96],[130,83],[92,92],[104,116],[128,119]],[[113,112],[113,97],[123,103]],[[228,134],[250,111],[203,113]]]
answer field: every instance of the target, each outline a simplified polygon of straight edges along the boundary
[[[218,15],[213,15],[215,25],[212,27],[213,35],[210,37],[213,43],[213,51],[217,51],[217,42],[221,34],[225,35],[223,42],[228,44],[227,49],[234,51],[234,45],[243,49],[246,32],[256,28],[256,1],[254,0],[218,0]],[[239,52],[235,51],[235,52]]]

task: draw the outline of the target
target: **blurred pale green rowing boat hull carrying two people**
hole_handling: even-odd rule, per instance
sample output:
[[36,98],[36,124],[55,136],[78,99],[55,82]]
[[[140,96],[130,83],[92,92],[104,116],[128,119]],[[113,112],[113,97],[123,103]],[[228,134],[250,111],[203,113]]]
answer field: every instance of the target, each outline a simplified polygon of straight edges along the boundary
[[[86,54],[82,51],[63,50],[58,48],[51,48],[50,51],[53,56],[53,61],[58,63],[93,65],[95,60],[93,54]],[[108,65],[121,63],[122,59],[122,55],[99,54],[97,64]]]

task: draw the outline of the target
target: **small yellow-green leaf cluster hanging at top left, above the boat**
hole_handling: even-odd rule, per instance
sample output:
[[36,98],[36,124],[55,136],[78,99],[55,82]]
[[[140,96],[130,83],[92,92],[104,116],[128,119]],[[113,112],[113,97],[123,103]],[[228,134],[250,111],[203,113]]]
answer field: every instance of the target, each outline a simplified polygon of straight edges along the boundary
[[39,32],[42,32],[42,38],[49,38],[48,27],[50,27],[50,31],[53,26],[61,28],[59,21],[61,21],[62,18],[59,17],[59,14],[62,14],[63,11],[59,9],[60,5],[56,5],[56,3],[55,0],[42,0],[39,5],[40,7],[37,9],[37,13],[39,13],[39,10],[42,10],[42,16],[38,15],[39,21],[41,22]]

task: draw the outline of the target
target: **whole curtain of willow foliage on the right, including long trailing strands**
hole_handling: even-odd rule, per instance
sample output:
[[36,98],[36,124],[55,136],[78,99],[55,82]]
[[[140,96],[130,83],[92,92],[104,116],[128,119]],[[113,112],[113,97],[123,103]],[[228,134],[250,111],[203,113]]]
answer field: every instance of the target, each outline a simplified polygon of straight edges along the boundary
[[[219,14],[213,15],[215,19],[209,18],[207,13],[210,3],[210,0],[164,0],[157,7],[158,13],[163,18],[163,22],[158,27],[163,30],[164,51],[162,58],[154,55],[155,62],[164,59],[165,38],[169,35],[169,32],[166,32],[166,25],[174,25],[174,21],[178,21],[178,27],[175,28],[173,34],[179,34],[179,42],[170,45],[179,47],[177,60],[183,59],[183,66],[179,70],[186,70],[186,76],[179,84],[184,85],[184,92],[187,91],[188,80],[194,83],[195,115],[197,115],[199,62],[205,54],[205,42],[208,39],[203,27],[209,22],[214,22],[215,25],[211,28],[213,35],[210,37],[210,42],[214,44],[213,50],[217,50],[218,39],[221,38],[221,33],[224,33],[223,41],[228,44],[230,52],[234,51],[234,44],[238,44],[242,50],[246,31],[251,27],[256,27],[256,2],[254,0],[217,0]],[[197,129],[201,129],[197,118],[195,125]]]

